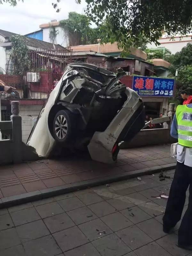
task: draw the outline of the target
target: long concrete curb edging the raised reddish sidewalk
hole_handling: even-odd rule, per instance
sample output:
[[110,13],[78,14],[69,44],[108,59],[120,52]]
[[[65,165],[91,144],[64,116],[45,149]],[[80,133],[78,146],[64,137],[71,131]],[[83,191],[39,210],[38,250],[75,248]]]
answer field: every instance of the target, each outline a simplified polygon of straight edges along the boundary
[[110,178],[106,177],[106,178],[97,178],[92,180],[79,181],[72,184],[57,186],[54,188],[46,188],[46,189],[24,193],[16,196],[4,197],[0,199],[0,209],[8,208],[18,204],[25,204],[31,201],[37,201],[37,200],[41,200],[41,199],[52,197],[52,196],[58,196],[61,194],[66,194],[66,193],[74,192],[81,189],[100,186],[100,185],[108,184],[115,181],[131,179],[138,176],[144,176],[147,174],[153,174],[153,173],[161,172],[162,170],[168,171],[168,170],[174,169],[175,166],[176,166],[176,163],[165,164],[163,166],[148,167],[145,169],[131,171],[128,173],[116,174]]

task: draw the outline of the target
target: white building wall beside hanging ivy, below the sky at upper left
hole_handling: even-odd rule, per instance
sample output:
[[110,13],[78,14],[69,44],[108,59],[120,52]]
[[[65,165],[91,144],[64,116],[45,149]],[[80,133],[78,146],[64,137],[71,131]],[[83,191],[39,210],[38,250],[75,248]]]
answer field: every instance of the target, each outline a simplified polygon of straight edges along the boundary
[[[59,30],[59,34],[56,37],[55,44],[60,44],[63,47],[68,47],[68,35],[61,27],[55,27]],[[43,41],[52,43],[49,38],[49,28],[43,28]]]

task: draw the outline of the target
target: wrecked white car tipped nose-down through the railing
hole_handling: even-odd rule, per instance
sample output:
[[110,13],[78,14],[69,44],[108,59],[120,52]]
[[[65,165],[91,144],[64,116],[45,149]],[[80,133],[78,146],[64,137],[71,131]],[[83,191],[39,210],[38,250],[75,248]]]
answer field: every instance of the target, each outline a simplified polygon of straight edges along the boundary
[[46,100],[29,135],[38,155],[60,148],[88,148],[93,160],[114,163],[119,144],[131,140],[145,124],[143,102],[117,74],[86,63],[69,64]]

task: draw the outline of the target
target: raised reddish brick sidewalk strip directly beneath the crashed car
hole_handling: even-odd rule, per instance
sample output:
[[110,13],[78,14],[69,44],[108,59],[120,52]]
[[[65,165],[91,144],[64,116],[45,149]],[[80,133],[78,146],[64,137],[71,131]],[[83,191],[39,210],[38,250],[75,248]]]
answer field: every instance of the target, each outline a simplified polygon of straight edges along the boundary
[[122,149],[114,165],[82,156],[0,166],[0,198],[174,163],[170,145]]

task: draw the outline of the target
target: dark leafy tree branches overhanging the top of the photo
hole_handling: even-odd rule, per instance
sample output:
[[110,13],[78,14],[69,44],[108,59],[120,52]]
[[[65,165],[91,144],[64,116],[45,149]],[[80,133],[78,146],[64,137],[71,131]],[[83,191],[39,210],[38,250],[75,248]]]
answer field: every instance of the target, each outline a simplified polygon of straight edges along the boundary
[[[75,0],[81,3],[81,0]],[[17,0],[0,0],[16,5]],[[56,1],[55,1],[56,2]],[[60,2],[60,0],[57,0]],[[158,44],[162,31],[168,36],[192,31],[191,0],[85,0],[86,14],[97,26],[105,21],[101,42],[118,42],[126,52],[142,40]],[[51,3],[51,2],[50,2]],[[53,3],[54,8],[58,8]],[[58,11],[59,9],[57,9]],[[140,40],[142,39],[142,40]]]

